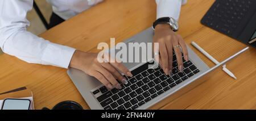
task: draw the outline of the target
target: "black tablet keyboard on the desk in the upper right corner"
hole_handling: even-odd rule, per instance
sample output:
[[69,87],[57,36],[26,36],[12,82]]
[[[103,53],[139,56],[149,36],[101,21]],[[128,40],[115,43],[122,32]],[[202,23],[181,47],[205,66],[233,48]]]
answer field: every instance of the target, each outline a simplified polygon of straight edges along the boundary
[[254,2],[255,0],[218,0],[201,22],[225,35],[232,36],[248,11],[255,7]]

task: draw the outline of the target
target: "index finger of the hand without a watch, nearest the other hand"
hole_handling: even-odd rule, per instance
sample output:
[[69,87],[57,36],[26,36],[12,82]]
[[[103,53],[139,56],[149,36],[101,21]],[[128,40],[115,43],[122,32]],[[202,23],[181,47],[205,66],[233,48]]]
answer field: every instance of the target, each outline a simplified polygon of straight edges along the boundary
[[133,77],[133,74],[131,74],[130,70],[126,68],[125,65],[123,65],[121,62],[113,59],[113,57],[109,56],[110,64],[114,66],[114,68],[118,69],[120,72],[125,74],[128,77]]

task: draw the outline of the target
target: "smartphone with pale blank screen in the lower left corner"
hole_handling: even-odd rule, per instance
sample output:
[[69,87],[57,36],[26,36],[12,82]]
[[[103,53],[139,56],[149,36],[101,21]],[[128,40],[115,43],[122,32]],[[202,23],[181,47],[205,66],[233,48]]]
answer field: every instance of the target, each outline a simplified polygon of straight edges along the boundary
[[2,110],[29,110],[31,101],[29,99],[5,99]]

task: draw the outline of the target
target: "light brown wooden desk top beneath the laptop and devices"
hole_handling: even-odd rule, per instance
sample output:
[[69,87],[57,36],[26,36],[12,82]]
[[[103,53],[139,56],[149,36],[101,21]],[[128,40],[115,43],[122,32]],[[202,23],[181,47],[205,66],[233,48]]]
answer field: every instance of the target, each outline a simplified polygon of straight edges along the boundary
[[[192,40],[219,61],[246,47],[200,24],[213,2],[188,1],[181,10],[178,32],[209,66],[213,66],[213,62],[190,45]],[[153,0],[106,0],[40,36],[82,51],[98,52],[97,44],[109,42],[110,37],[122,41],[150,27],[155,11]],[[207,82],[172,102],[162,101],[152,109],[256,109],[256,50],[250,48],[227,66],[238,80],[217,70]],[[66,69],[27,64],[6,54],[0,55],[0,67],[0,92],[27,86],[33,91],[36,109],[51,108],[66,100],[79,102],[84,109],[89,109]]]

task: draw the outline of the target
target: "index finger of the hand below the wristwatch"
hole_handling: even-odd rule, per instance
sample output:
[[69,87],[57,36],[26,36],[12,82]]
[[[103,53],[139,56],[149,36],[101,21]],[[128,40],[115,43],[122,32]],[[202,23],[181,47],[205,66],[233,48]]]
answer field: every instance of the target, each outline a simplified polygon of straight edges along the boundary
[[161,55],[161,61],[162,61],[162,68],[164,70],[164,73],[166,75],[169,74],[169,67],[168,67],[168,53],[166,49],[166,44],[165,43],[159,43],[159,52]]

